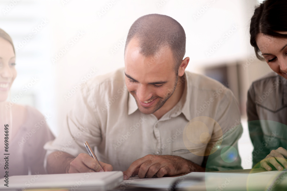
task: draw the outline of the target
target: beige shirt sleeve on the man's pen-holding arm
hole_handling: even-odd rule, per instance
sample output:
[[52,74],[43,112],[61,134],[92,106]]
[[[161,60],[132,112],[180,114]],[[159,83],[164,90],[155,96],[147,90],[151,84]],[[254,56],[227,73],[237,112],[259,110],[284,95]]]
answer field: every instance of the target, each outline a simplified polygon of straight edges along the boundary
[[[79,90],[73,109],[65,118],[59,136],[54,141],[49,141],[44,146],[47,149],[46,157],[54,152],[55,157],[60,157],[62,152],[76,157],[79,153],[86,153],[84,142],[88,141],[93,148],[102,141],[102,132],[97,119],[96,103],[94,96],[96,90],[90,90],[87,84]],[[45,158],[46,166],[46,158]]]

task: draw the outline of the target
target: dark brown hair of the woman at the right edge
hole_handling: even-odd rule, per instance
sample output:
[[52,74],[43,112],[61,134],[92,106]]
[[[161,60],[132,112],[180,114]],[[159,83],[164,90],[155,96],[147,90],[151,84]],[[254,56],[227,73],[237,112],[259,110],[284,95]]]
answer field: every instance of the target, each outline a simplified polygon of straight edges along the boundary
[[259,33],[264,35],[287,38],[287,34],[280,32],[287,31],[287,0],[266,0],[255,8],[254,15],[250,23],[250,44],[254,47],[256,57],[260,51],[256,38]]

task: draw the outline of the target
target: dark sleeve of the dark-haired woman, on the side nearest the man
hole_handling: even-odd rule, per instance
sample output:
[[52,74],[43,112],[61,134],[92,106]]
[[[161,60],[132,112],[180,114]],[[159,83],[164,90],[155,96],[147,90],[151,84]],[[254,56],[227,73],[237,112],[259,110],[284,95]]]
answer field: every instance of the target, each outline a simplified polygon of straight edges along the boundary
[[247,121],[249,128],[249,135],[251,142],[254,146],[252,156],[253,165],[255,168],[259,168],[259,162],[264,159],[268,154],[269,150],[263,147],[263,131],[260,124],[260,120],[257,114],[256,103],[255,103],[255,91],[254,84],[251,85],[247,93]]

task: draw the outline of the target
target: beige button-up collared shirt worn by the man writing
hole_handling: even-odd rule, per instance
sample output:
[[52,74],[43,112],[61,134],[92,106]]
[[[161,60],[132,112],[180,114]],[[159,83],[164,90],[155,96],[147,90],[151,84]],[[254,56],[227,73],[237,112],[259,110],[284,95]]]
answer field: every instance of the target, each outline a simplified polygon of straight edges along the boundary
[[[60,135],[44,148],[48,154],[59,150],[56,157],[62,151],[76,157],[87,153],[88,141],[100,161],[121,171],[148,154],[177,155],[214,170],[240,169],[242,127],[232,92],[199,74],[185,72],[183,80],[180,101],[157,119],[138,110],[125,86],[124,68],[97,76],[79,90]],[[226,161],[230,153],[231,162]]]

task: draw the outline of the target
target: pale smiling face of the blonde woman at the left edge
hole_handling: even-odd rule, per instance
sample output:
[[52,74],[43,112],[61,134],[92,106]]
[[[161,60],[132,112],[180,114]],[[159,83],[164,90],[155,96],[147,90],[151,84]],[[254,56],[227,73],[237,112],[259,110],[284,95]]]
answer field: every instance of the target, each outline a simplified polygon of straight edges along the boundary
[[7,99],[16,76],[13,46],[7,40],[0,38],[0,102]]

